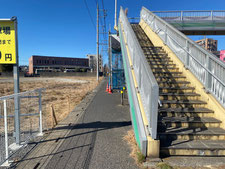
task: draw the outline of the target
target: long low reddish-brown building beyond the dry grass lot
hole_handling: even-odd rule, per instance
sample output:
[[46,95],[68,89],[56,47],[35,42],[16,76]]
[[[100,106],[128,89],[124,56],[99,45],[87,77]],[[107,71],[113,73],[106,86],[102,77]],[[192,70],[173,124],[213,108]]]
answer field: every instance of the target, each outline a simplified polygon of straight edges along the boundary
[[29,59],[29,74],[38,71],[65,71],[89,68],[89,59],[33,55]]

